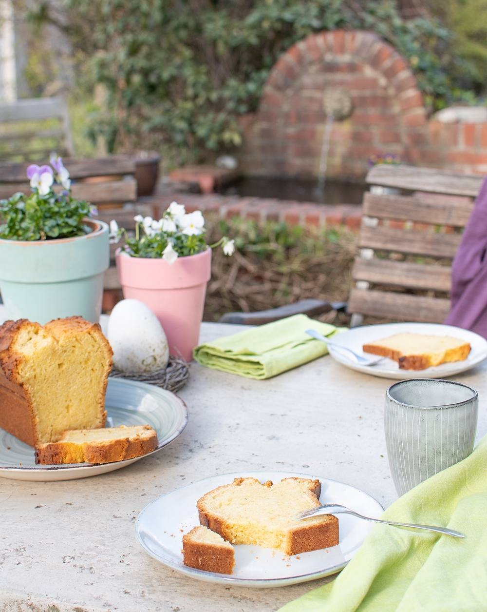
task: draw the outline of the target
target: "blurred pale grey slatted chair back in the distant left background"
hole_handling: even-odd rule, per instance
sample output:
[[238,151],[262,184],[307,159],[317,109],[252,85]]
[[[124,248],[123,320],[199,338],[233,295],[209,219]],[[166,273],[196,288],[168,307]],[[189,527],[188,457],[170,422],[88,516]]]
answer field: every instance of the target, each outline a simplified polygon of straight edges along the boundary
[[63,98],[0,104],[0,161],[45,159],[53,150],[60,155],[75,154]]

